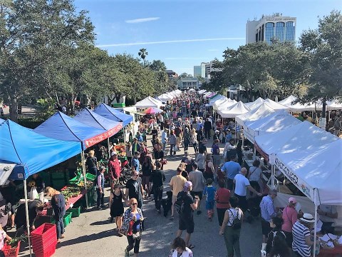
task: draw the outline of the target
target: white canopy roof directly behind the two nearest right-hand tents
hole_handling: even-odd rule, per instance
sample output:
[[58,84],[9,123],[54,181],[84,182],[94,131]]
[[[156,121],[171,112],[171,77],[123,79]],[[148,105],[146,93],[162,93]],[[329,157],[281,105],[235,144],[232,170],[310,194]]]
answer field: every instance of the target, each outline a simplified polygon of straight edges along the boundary
[[284,110],[276,111],[257,121],[247,121],[244,126],[244,136],[254,143],[254,137],[268,133],[276,133],[290,126],[300,124],[301,121]]

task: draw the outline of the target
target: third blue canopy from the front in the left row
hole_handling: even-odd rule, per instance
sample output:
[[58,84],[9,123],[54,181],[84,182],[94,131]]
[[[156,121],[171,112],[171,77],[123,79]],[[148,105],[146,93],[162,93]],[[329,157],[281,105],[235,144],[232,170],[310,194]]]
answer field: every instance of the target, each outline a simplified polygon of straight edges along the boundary
[[105,117],[96,114],[88,108],[83,109],[79,114],[73,117],[73,119],[75,119],[76,121],[80,121],[81,123],[86,124],[88,126],[93,126],[98,129],[105,129],[106,131],[108,131],[108,152],[110,151],[110,136],[115,135],[120,131],[120,129],[123,129],[123,124],[121,122],[106,119]]

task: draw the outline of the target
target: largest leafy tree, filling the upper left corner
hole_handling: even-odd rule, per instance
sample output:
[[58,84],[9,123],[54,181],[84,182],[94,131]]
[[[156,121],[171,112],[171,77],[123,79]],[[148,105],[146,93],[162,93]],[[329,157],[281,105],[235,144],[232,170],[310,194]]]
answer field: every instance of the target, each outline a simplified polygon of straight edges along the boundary
[[71,0],[14,0],[1,11],[0,31],[0,91],[9,99],[13,121],[21,97],[66,81],[59,74],[61,59],[94,39],[86,11],[77,12]]

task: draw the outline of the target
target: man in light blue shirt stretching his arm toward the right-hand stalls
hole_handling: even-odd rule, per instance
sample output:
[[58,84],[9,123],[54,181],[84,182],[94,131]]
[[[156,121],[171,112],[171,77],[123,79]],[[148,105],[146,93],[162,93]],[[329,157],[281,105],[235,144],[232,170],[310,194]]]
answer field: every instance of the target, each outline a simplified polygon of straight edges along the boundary
[[256,193],[258,196],[262,196],[261,193],[256,191],[252,186],[249,184],[249,180],[246,178],[247,168],[241,168],[239,174],[235,175],[234,183],[235,183],[235,190],[234,195],[239,198],[239,207],[242,209],[243,212],[247,211],[247,188],[253,193]]

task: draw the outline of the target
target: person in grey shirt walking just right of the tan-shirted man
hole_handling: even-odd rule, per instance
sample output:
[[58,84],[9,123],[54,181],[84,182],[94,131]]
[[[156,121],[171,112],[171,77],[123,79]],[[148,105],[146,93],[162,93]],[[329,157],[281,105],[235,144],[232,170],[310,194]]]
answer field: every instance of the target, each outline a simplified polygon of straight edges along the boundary
[[199,216],[199,214],[202,213],[202,211],[199,210],[199,205],[203,197],[205,181],[202,171],[199,171],[197,168],[197,163],[192,163],[192,171],[189,173],[189,181],[192,182],[192,191],[190,192],[192,198],[195,198],[195,196],[198,196],[199,198],[196,212],[197,216]]

